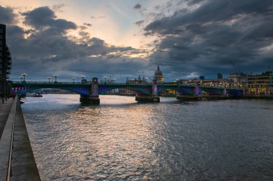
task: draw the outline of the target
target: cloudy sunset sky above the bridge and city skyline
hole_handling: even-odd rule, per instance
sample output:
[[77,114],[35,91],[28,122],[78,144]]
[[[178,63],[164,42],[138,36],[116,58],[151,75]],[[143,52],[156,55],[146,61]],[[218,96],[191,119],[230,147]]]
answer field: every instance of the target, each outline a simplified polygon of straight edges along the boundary
[[0,0],[0,23],[12,81],[152,80],[158,64],[165,81],[273,69],[272,0]]

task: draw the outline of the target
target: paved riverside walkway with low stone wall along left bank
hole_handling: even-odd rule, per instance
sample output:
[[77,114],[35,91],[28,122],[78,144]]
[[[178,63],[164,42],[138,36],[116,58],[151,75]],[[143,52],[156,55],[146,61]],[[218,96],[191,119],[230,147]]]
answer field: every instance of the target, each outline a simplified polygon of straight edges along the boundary
[[17,101],[10,98],[7,101],[4,100],[4,104],[0,104],[0,181],[7,180],[14,116],[15,131],[10,181],[41,181],[20,101],[18,97],[16,99]]

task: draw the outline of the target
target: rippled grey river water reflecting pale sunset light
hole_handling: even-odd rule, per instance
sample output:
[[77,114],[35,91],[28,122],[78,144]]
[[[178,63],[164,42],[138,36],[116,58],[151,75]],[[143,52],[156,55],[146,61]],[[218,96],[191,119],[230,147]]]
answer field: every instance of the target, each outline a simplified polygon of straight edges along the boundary
[[79,99],[24,99],[42,181],[273,180],[272,100]]

